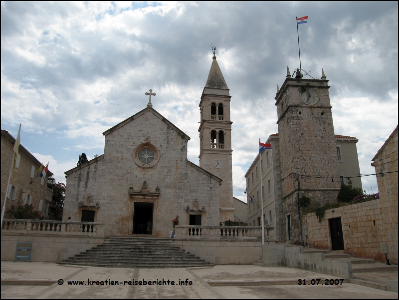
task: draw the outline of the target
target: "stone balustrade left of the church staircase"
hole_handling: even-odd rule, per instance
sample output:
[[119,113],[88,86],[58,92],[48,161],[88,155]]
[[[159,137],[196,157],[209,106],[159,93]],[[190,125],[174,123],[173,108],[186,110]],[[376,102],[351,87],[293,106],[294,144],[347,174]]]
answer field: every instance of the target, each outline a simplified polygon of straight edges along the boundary
[[73,235],[104,236],[104,224],[95,222],[4,219],[2,232],[67,233]]

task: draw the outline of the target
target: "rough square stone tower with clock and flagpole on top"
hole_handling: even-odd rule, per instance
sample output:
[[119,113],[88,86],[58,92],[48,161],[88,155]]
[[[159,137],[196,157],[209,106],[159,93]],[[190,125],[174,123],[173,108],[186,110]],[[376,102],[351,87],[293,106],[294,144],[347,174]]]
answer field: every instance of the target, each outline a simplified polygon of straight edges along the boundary
[[298,199],[336,202],[341,187],[328,80],[303,79],[300,72],[286,79],[275,97],[282,178],[282,240],[305,240]]

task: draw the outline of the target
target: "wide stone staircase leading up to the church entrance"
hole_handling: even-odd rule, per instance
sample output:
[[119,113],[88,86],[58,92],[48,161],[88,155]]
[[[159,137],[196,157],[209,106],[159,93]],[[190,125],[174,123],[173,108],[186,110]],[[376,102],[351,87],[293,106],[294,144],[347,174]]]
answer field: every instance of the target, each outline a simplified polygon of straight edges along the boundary
[[104,242],[58,264],[106,268],[212,267],[170,239],[154,237],[106,237]]

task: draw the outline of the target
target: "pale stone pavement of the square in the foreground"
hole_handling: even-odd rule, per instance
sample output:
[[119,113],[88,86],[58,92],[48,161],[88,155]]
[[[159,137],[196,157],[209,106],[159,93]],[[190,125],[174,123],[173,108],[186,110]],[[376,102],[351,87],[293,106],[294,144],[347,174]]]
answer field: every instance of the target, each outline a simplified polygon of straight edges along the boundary
[[[396,273],[397,276],[397,273]],[[63,284],[41,286],[48,280]],[[145,281],[129,285],[129,281]],[[191,285],[179,285],[188,279]],[[306,279],[299,286],[298,279]],[[346,283],[338,286],[312,286],[311,279],[331,276],[291,268],[262,268],[254,265],[216,265],[212,268],[123,269],[60,266],[54,263],[1,262],[1,299],[82,299],[82,298],[342,298],[398,299],[398,293]],[[7,281],[8,280],[8,281]],[[25,285],[4,285],[25,280]],[[164,285],[157,285],[161,281]],[[168,285],[169,280],[169,285]],[[82,282],[80,285],[79,282]],[[88,283],[88,281],[90,281]],[[104,286],[93,285],[93,281]],[[118,281],[119,285],[115,285]],[[155,285],[149,285],[151,281]],[[175,285],[172,285],[175,281]],[[69,282],[69,284],[68,284]],[[125,283],[126,282],[126,283]],[[27,285],[31,284],[31,285]],[[47,284],[46,282],[44,284]],[[51,284],[51,283],[50,283]],[[111,285],[110,285],[111,284]],[[114,285],[112,285],[114,284]]]

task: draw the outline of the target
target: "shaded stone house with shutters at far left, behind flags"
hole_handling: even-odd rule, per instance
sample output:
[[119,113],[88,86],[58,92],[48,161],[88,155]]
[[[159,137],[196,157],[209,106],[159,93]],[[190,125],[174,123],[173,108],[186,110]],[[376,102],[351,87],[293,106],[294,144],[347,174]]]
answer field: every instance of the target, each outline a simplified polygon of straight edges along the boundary
[[[52,199],[52,190],[47,188],[47,178],[52,175],[47,173],[46,178],[38,176],[41,163],[23,147],[18,149],[15,163],[16,177],[11,177],[7,187],[9,171],[11,168],[13,147],[15,139],[6,130],[1,130],[1,207],[5,202],[5,212],[11,205],[18,206],[31,204],[40,212],[43,219],[48,219],[48,206]],[[8,217],[5,213],[4,217]]]

